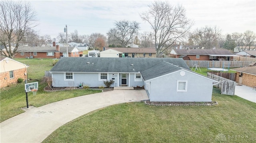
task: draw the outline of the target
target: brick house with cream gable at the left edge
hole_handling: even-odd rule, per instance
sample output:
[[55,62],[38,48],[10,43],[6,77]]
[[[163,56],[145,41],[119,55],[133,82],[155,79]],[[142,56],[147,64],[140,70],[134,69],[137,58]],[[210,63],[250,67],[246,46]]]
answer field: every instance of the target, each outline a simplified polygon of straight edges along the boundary
[[18,78],[27,78],[28,65],[10,59],[8,57],[0,57],[0,88],[9,84],[17,83]]

